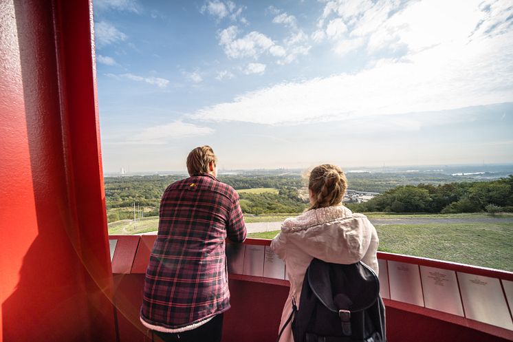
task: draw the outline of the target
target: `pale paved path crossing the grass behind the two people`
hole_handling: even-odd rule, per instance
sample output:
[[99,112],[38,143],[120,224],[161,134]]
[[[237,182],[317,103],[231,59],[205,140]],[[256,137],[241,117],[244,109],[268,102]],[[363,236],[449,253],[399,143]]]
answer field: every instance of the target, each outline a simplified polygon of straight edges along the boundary
[[[476,217],[476,218],[386,218],[386,219],[369,219],[375,226],[387,226],[391,224],[459,224],[459,223],[512,223],[513,217]],[[279,231],[281,224],[279,222],[254,222],[247,223],[248,233],[262,233],[266,231]],[[142,233],[139,235],[156,235],[157,232]]]

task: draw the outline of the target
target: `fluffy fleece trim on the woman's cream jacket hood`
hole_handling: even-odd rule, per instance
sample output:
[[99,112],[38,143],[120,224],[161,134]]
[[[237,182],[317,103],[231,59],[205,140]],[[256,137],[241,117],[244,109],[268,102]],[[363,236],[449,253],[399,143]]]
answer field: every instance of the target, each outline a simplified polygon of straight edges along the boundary
[[353,212],[343,205],[311,209],[297,217],[287,218],[281,226],[281,231],[283,231],[283,233],[303,231],[312,226],[318,226],[319,224],[342,220],[352,216]]

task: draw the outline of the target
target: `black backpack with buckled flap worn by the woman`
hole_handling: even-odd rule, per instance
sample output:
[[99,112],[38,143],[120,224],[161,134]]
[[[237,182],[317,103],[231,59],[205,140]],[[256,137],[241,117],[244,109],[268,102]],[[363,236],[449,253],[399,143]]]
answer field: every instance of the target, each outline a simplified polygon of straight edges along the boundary
[[386,342],[380,281],[369,266],[331,264],[313,259],[293,303],[290,323],[295,342]]

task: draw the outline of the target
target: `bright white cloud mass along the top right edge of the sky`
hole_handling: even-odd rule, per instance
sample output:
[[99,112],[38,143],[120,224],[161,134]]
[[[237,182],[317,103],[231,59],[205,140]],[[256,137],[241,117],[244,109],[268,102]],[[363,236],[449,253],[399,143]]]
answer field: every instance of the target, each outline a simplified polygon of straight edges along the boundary
[[364,39],[369,54],[398,50],[412,54],[450,41],[469,41],[490,31],[505,33],[511,15],[513,8],[507,1],[333,0],[325,4],[312,39],[320,43],[329,36],[336,52],[348,52],[349,45],[340,42],[343,36]]

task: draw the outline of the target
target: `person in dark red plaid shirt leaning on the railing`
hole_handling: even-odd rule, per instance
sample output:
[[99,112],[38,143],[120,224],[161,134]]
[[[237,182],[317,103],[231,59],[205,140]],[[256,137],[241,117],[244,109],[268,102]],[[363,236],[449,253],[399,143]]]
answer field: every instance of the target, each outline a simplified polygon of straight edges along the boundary
[[217,180],[209,146],[187,157],[189,178],[169,185],[160,202],[140,319],[163,341],[219,342],[230,308],[225,240],[243,242],[239,195]]

